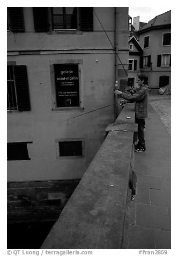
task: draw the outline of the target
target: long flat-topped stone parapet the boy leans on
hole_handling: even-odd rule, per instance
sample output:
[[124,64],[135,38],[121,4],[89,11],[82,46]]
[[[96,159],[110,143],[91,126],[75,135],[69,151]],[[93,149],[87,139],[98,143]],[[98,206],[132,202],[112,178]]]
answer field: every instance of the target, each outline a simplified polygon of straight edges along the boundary
[[123,248],[135,131],[128,103],[41,248]]

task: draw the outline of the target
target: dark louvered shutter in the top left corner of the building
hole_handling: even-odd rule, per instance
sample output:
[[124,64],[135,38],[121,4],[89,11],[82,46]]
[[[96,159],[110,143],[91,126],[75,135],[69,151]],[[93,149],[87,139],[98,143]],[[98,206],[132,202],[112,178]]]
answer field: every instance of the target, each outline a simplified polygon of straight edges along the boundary
[[12,32],[24,32],[23,7],[8,7],[9,26]]

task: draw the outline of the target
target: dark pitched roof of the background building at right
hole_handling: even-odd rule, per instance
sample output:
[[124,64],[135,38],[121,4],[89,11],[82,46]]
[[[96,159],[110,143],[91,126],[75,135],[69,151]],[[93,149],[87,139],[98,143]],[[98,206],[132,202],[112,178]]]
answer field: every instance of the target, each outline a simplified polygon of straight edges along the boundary
[[141,29],[137,31],[138,34],[141,34],[142,32],[152,30],[152,29],[158,29],[163,26],[170,26],[171,24],[171,11],[167,11],[165,13],[162,13],[156,17],[154,17],[152,20],[150,20],[149,23],[144,25]]

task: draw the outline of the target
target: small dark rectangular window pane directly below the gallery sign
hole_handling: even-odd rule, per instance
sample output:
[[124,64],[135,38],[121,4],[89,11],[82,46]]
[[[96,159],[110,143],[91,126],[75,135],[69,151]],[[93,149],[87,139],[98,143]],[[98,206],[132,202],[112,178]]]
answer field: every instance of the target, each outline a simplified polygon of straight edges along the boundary
[[60,141],[60,157],[82,155],[82,141]]

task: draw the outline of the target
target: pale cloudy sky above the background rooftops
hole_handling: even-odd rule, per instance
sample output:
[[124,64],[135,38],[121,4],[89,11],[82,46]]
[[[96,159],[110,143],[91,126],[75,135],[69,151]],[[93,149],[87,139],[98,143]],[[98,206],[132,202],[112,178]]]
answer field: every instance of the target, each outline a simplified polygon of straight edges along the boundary
[[139,16],[140,22],[148,23],[149,20],[153,19],[155,16],[160,15],[164,12],[170,11],[171,6],[142,6],[142,7],[129,7],[129,15],[134,18]]

